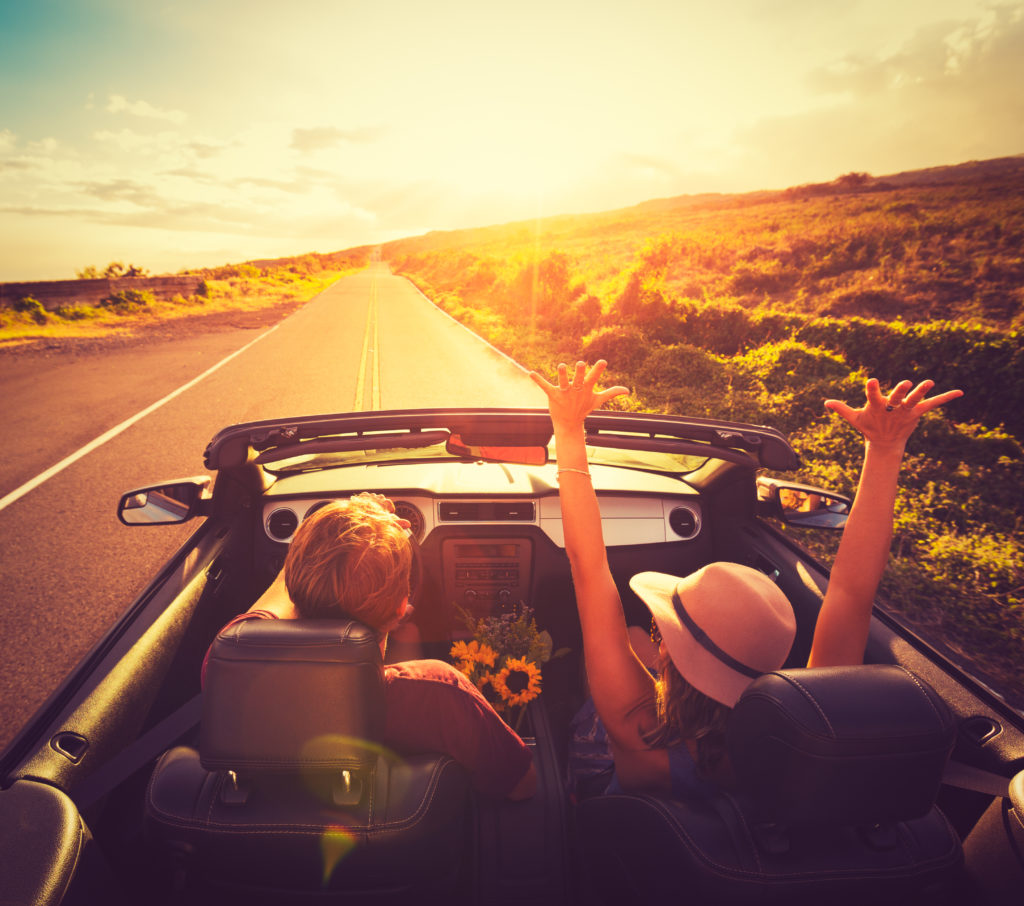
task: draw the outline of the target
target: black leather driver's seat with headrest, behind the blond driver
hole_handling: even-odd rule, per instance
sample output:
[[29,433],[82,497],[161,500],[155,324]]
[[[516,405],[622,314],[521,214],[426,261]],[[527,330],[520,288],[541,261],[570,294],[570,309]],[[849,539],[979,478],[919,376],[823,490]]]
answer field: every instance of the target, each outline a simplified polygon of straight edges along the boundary
[[207,667],[200,749],[163,756],[151,839],[216,902],[410,902],[466,870],[469,781],[380,744],[377,637],[348,620],[247,620]]

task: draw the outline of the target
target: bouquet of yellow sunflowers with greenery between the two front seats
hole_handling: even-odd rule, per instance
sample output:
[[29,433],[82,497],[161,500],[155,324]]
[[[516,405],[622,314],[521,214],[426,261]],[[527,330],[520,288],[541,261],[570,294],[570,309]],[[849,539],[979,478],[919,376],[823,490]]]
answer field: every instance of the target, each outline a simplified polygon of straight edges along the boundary
[[541,668],[568,649],[552,653],[551,635],[538,630],[525,605],[479,619],[464,612],[463,619],[472,638],[452,646],[452,660],[495,710],[506,720],[515,715],[518,729],[526,705],[541,694]]

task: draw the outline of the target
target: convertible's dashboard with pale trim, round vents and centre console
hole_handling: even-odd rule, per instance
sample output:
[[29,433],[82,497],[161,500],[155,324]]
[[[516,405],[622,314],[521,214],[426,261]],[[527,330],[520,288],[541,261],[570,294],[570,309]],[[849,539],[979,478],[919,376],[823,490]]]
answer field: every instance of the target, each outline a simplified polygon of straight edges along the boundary
[[[707,518],[694,488],[634,470],[595,465],[592,474],[613,565],[672,571],[683,568],[681,560],[692,568],[708,556]],[[440,608],[485,615],[524,601],[543,609],[546,597],[564,600],[570,589],[553,467],[391,464],[289,476],[262,500],[263,562],[279,569],[304,519],[361,490],[386,494],[409,520],[429,597]],[[450,623],[451,613],[439,619]]]

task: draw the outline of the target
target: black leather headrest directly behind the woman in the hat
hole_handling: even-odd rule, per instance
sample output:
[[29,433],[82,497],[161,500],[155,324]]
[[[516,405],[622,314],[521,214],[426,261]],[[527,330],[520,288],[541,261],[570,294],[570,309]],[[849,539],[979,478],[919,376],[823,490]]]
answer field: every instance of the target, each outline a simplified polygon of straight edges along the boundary
[[736,703],[727,745],[756,820],[883,824],[931,809],[954,734],[928,684],[869,664],[765,674]]

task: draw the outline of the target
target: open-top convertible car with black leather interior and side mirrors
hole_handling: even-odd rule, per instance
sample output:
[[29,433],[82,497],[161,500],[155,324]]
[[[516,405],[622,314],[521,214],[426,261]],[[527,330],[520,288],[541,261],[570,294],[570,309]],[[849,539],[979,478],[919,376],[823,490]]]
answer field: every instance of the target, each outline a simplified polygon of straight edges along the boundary
[[[649,624],[631,575],[714,560],[764,571],[793,603],[787,667],[730,719],[734,787],[692,803],[567,792],[586,683],[546,413],[255,422],[212,439],[208,474],[122,498],[128,526],[198,527],[4,751],[0,900],[1020,902],[1021,714],[882,607],[864,665],[797,668],[828,574],[795,538],[842,527],[849,501],[780,477],[799,459],[770,428],[597,412],[587,432],[631,623]],[[522,605],[567,651],[519,728],[531,799],[484,797],[447,757],[378,744],[367,628],[218,635],[311,511],[364,490],[410,523],[425,656],[447,658],[467,614]]]

